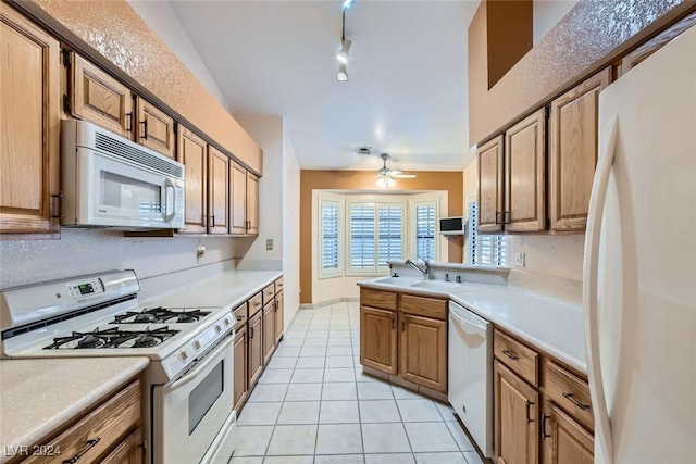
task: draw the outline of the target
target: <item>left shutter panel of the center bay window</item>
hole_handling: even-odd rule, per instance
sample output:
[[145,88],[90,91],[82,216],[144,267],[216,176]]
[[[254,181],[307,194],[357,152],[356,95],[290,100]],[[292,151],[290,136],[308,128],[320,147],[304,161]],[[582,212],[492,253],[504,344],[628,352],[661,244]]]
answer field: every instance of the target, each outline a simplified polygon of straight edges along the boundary
[[350,269],[375,269],[374,205],[353,203],[350,217]]

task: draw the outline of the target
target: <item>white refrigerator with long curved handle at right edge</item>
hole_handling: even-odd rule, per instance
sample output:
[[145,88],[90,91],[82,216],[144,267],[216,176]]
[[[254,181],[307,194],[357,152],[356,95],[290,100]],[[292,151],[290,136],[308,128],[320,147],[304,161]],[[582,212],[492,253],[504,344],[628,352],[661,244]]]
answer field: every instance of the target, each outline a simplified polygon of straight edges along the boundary
[[696,463],[696,27],[599,96],[584,260],[595,463]]

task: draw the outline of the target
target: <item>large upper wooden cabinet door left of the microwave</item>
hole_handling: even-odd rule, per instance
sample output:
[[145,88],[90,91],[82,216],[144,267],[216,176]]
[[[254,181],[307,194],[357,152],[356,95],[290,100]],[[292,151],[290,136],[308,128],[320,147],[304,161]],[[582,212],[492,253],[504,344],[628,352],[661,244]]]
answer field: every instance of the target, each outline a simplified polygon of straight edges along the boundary
[[60,46],[0,3],[0,233],[58,233]]

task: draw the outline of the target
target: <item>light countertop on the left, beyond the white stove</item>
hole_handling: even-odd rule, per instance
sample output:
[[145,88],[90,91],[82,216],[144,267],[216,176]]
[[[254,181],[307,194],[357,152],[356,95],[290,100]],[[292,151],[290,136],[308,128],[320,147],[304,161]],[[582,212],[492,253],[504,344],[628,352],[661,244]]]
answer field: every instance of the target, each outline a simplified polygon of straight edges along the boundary
[[140,303],[146,305],[160,304],[169,308],[221,306],[235,309],[273,284],[282,275],[282,271],[229,271]]

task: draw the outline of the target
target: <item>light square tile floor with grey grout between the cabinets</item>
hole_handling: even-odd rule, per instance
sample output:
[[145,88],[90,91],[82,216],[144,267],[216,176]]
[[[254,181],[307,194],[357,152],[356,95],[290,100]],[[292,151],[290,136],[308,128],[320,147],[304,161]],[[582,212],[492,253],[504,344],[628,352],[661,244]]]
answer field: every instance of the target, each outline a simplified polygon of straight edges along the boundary
[[482,463],[451,407],[362,373],[357,302],[298,312],[220,455],[215,464]]

